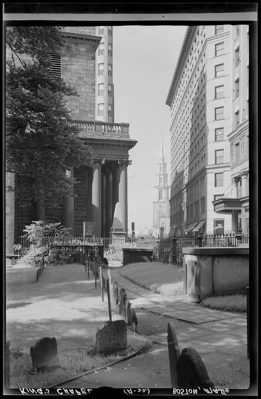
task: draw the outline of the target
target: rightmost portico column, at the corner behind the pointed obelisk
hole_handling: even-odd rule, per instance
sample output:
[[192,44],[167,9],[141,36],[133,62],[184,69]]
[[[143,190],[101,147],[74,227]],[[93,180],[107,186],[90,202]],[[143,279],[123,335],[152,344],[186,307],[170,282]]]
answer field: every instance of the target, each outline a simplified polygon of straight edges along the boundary
[[119,163],[119,204],[122,214],[122,224],[126,236],[128,235],[128,183],[127,166],[131,165],[129,160],[118,160]]

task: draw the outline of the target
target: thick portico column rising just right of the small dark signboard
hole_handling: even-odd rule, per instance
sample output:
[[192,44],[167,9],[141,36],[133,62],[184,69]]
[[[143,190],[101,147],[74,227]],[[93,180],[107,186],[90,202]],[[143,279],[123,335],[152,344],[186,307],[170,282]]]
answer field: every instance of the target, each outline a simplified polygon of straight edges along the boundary
[[95,222],[95,235],[101,236],[101,162],[95,163],[92,178],[92,221]]

